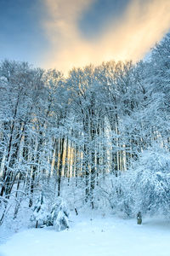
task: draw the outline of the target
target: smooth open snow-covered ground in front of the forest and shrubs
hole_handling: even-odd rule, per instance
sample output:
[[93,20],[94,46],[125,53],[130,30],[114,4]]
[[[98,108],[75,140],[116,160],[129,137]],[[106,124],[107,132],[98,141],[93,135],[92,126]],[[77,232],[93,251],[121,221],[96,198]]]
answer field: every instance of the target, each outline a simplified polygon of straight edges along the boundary
[[101,216],[71,216],[71,228],[24,230],[0,245],[0,256],[169,256],[170,222]]

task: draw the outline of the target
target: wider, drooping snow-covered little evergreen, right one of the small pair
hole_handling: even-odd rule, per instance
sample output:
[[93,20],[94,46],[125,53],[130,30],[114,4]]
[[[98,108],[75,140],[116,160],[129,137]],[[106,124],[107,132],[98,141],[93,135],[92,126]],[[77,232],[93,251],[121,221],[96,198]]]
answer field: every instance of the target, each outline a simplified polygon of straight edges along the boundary
[[48,214],[47,225],[54,226],[55,230],[58,231],[69,228],[69,211],[61,197],[57,199]]

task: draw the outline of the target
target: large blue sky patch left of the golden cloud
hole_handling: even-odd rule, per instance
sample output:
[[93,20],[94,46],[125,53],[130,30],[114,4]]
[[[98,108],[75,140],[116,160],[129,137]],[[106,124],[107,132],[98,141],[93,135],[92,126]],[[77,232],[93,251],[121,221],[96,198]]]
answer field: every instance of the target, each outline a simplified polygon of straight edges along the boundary
[[37,0],[0,0],[0,58],[40,64],[48,48],[41,25],[43,6]]

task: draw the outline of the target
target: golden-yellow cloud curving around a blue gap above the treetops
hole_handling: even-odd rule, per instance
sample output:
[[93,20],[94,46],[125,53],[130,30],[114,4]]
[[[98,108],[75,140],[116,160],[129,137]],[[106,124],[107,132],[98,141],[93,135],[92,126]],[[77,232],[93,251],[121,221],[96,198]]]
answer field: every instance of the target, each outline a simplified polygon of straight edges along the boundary
[[169,0],[131,0],[119,22],[107,22],[98,38],[83,38],[78,21],[94,1],[98,0],[44,0],[48,18],[42,26],[51,44],[45,67],[66,73],[112,59],[138,61],[170,28]]

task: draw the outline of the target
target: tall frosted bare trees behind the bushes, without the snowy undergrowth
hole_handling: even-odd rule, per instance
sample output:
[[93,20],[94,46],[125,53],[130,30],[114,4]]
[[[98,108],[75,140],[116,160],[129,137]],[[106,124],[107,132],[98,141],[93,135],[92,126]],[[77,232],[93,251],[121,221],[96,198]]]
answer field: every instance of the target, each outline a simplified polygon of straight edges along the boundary
[[[26,62],[0,65],[0,201],[29,198],[62,181],[94,207],[101,177],[119,177],[154,143],[169,150],[170,34],[148,61],[73,68],[68,77]],[[114,186],[114,184],[112,184]],[[69,195],[71,196],[71,195]]]

